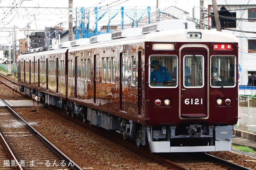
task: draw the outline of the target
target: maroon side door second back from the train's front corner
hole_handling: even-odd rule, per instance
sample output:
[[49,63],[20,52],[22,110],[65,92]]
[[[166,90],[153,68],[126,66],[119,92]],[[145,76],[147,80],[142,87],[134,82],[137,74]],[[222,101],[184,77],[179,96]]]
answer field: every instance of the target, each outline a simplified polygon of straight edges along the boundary
[[127,53],[120,53],[120,66],[119,70],[121,76],[119,77],[119,84],[120,84],[120,110],[123,112],[127,111],[127,106],[125,105],[125,99],[127,97],[127,90],[128,90],[128,57]]

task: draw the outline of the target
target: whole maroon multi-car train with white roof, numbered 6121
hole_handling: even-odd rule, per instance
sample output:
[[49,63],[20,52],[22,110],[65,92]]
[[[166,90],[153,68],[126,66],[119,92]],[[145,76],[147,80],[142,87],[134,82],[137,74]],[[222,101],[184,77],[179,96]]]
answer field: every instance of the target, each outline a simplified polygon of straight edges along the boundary
[[[171,78],[150,80],[153,60]],[[18,68],[21,92],[152,152],[231,148],[238,119],[232,34],[169,20],[22,54]]]

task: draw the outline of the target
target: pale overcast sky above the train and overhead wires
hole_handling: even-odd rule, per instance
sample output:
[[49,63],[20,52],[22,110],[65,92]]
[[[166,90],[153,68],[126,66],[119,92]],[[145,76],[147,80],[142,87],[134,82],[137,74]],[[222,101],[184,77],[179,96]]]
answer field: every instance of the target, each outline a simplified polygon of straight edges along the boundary
[[[73,18],[75,15],[75,9],[78,10],[81,7],[86,7],[93,9],[94,7],[98,7],[101,9],[120,9],[120,7],[124,7],[125,9],[147,9],[148,6],[151,7],[151,12],[156,9],[157,0],[73,0]],[[69,0],[0,0],[0,7],[9,7],[14,4],[15,7],[59,7],[59,8],[67,8],[69,7]],[[17,4],[17,5],[15,5]],[[200,0],[158,0],[158,6],[160,10],[175,6],[186,12],[189,12],[189,17],[192,17],[192,8],[195,7],[195,16],[199,19],[200,15]],[[207,7],[207,1],[204,0],[204,6]],[[30,27],[29,32],[41,31],[47,27],[60,26],[65,29],[68,29],[68,10],[66,11],[66,15],[24,15],[20,14],[20,10],[18,8],[14,8],[12,12],[5,12],[0,10],[0,38],[1,44],[9,43],[12,41],[12,32],[6,31],[3,28],[16,27],[16,39],[22,39],[26,37],[28,31],[26,31],[27,26]],[[47,11],[44,12],[47,14]],[[116,17],[117,18],[117,17]],[[127,17],[128,19],[128,17]],[[129,22],[130,20],[125,20],[125,22]],[[98,27],[100,25],[107,25],[108,17],[103,17],[99,20]],[[121,24],[121,19],[116,20],[116,22]],[[111,24],[114,24],[111,20]],[[73,20],[73,26],[75,26]],[[93,27],[93,28],[92,28]],[[95,16],[93,12],[90,15],[90,28],[94,29],[95,27]]]

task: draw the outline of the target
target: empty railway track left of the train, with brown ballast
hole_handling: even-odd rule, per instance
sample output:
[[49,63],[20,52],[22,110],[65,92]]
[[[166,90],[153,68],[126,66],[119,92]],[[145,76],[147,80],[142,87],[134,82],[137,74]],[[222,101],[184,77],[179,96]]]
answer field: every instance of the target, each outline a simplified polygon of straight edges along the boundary
[[[81,170],[72,160],[59,151],[47,139],[40,135],[18,114],[16,114],[3,100],[6,109],[0,116],[0,132],[16,158],[4,160],[14,162],[5,164],[6,167],[18,167],[26,170]],[[17,166],[15,166],[17,164]]]

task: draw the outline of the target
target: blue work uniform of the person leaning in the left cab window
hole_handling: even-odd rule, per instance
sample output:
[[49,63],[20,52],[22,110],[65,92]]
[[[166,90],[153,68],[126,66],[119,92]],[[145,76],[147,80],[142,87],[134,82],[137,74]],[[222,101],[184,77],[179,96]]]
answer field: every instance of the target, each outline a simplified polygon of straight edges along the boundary
[[168,69],[160,65],[157,70],[152,71],[150,75],[150,84],[153,82],[154,79],[156,81],[156,86],[163,86],[164,81],[172,80]]

